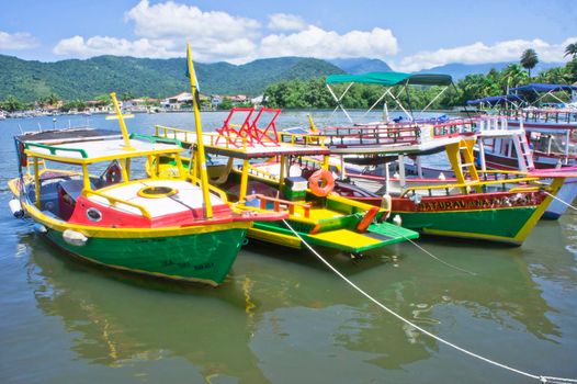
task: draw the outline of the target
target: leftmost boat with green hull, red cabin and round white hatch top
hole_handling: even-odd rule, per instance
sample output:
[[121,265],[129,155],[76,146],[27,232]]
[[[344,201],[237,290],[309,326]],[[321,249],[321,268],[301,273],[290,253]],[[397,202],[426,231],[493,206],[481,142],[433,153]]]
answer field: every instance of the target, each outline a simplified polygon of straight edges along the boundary
[[[83,260],[220,284],[253,221],[286,214],[247,214],[210,187],[205,173],[184,174],[182,146],[128,135],[115,94],[111,97],[122,135],[79,128],[15,137],[19,178],[9,182],[16,197],[10,203],[14,215],[29,216],[42,237]],[[137,169],[166,156],[176,160],[182,177],[143,177],[144,169]],[[100,176],[90,173],[94,171]]]

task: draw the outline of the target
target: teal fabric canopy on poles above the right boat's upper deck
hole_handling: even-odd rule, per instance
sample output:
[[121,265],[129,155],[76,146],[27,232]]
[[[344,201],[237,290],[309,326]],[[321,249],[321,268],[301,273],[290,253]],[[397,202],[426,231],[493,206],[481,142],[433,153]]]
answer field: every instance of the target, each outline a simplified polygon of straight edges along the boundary
[[404,74],[404,72],[369,72],[362,75],[329,75],[325,80],[327,84],[339,82],[361,82],[394,87],[407,86],[450,86],[453,79],[450,75],[441,74]]

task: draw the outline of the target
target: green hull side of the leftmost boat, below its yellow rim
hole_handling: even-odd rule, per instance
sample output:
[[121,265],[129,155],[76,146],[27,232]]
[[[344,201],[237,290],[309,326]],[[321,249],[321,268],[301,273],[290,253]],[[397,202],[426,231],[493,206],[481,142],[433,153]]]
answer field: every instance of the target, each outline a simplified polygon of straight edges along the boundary
[[47,228],[44,236],[68,253],[113,269],[218,285],[236,260],[248,226],[181,236],[88,236],[82,246],[66,241],[58,229]]

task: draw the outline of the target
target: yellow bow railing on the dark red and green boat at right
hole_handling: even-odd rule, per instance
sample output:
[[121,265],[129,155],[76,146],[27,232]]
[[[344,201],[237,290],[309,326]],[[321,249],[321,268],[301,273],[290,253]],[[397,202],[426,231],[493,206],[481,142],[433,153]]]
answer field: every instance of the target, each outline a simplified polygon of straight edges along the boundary
[[[469,194],[469,193],[473,193],[473,191],[475,191],[476,189],[486,190],[487,187],[498,187],[498,185],[501,185],[502,191],[519,192],[519,191],[524,191],[524,190],[538,190],[538,189],[542,189],[544,185],[533,185],[529,183],[535,182],[539,180],[540,178],[538,177],[521,176],[521,177],[516,177],[511,179],[506,178],[506,179],[495,179],[495,180],[484,180],[484,181],[469,181],[469,182],[465,181],[464,183],[444,183],[440,185],[430,185],[430,184],[429,185],[415,185],[415,187],[409,187],[409,188],[404,189],[400,196],[404,197],[410,194],[416,195],[418,194],[417,193],[418,191],[425,191],[426,195],[428,196],[438,195],[433,193],[434,191],[441,191],[441,192],[444,191],[444,194],[446,196],[452,195],[453,193],[451,192],[455,190],[460,191],[460,194],[463,194],[463,193]],[[507,190],[507,184],[523,184],[523,183],[524,185],[520,188]]]

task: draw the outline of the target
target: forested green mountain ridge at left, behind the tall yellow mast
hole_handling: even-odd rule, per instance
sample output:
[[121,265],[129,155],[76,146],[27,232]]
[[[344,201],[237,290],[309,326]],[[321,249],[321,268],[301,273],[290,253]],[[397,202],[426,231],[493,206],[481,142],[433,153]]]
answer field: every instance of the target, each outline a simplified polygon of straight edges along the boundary
[[[165,98],[188,90],[184,58],[148,59],[99,56],[87,60],[41,63],[0,55],[0,100],[12,94],[34,101],[55,93],[65,100],[91,100],[115,91],[135,97]],[[342,74],[324,60],[281,57],[245,65],[195,64],[204,94],[258,95],[281,81]]]

